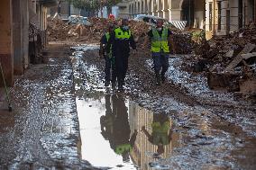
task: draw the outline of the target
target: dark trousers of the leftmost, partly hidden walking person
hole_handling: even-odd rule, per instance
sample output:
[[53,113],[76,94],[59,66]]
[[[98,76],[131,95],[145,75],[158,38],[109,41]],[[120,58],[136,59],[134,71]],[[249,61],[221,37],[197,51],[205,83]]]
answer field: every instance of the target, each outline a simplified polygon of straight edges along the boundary
[[112,69],[112,83],[115,83],[115,70],[114,70],[114,60],[113,58],[108,58],[105,56],[105,82],[111,81],[111,69]]

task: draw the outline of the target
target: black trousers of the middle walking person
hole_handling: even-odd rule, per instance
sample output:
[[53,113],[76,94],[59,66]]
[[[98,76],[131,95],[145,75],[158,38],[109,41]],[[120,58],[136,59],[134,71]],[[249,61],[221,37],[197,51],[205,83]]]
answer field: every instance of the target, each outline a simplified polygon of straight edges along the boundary
[[128,57],[129,54],[116,54],[115,59],[115,76],[119,86],[123,86],[124,78],[128,69]]

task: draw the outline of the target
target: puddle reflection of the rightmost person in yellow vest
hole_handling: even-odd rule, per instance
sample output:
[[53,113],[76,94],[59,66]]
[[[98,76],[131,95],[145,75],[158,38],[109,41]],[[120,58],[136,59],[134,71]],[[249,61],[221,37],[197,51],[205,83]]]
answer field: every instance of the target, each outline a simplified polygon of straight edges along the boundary
[[151,144],[158,146],[157,152],[160,155],[164,152],[164,146],[169,145],[171,140],[172,131],[170,129],[168,115],[165,113],[154,114],[151,128],[151,134],[145,129],[144,126],[142,126],[142,131],[145,133]]

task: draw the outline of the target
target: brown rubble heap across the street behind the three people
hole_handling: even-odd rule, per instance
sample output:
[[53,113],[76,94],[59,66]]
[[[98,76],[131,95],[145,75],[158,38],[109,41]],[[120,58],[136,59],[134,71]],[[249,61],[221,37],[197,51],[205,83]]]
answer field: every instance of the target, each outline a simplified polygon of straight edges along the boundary
[[[90,26],[83,24],[70,25],[59,19],[48,21],[48,40],[77,40],[83,42],[99,42],[101,36],[107,31],[108,24],[120,25],[121,20],[108,20],[105,18],[88,18],[92,24]],[[138,47],[143,44],[147,37],[147,32],[151,25],[147,22],[129,21],[134,39],[137,41]],[[173,31],[173,39],[175,42],[176,52],[178,54],[191,53],[191,35],[190,32]],[[149,45],[150,46],[150,45]]]

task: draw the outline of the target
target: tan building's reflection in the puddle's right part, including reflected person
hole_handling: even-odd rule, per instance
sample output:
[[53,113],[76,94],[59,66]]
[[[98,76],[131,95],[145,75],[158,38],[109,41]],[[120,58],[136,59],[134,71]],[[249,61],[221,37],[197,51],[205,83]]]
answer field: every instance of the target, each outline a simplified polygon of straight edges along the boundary
[[134,163],[141,169],[169,169],[158,163],[179,146],[179,134],[172,131],[169,116],[153,114],[135,103],[130,103],[129,111],[131,129],[140,131],[131,154]]

